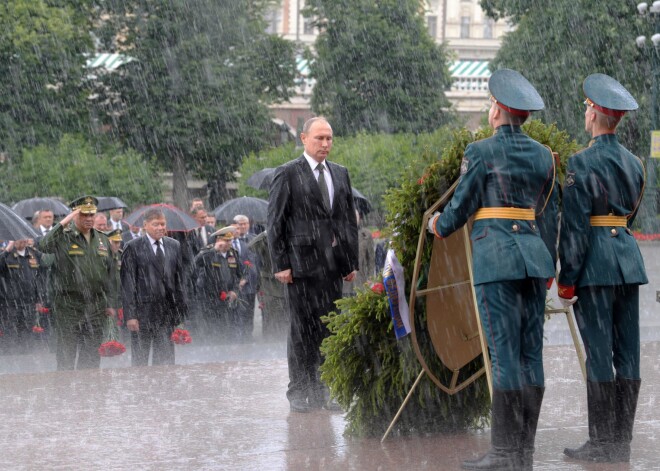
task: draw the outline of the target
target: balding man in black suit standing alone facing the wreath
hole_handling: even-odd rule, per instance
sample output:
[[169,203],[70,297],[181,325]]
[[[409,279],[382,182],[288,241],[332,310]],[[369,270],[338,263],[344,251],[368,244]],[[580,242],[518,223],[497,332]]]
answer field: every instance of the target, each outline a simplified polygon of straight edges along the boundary
[[332,128],[312,118],[300,135],[305,152],[275,171],[268,204],[268,242],[275,278],[289,297],[289,387],[294,412],[329,407],[319,379],[321,316],[335,309],[342,279],[358,269],[357,221],[348,171],[326,160]]

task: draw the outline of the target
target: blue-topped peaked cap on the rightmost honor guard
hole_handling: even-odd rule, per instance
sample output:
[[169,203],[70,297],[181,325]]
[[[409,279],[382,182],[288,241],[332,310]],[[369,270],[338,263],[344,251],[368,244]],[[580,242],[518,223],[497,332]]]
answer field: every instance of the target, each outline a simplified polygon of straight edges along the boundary
[[605,74],[591,74],[582,84],[585,105],[608,116],[623,116],[626,111],[639,108],[637,101],[626,88]]

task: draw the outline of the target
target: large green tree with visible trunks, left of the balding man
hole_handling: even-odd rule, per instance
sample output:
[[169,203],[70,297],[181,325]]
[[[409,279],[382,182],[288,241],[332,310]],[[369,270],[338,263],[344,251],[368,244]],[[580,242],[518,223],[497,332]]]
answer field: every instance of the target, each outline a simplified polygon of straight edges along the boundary
[[209,181],[218,204],[242,158],[269,143],[267,105],[289,97],[295,76],[293,45],[265,33],[269,4],[129,2],[137,60],[115,76],[123,102],[109,115],[131,146],[172,169],[179,206],[187,171]]

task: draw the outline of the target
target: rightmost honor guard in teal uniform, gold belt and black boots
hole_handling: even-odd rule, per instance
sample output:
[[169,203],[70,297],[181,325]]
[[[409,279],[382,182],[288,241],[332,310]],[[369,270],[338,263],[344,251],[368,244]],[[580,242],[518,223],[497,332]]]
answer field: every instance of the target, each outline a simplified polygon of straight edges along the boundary
[[568,161],[562,201],[558,279],[574,304],[587,354],[589,440],[564,453],[584,461],[628,462],[639,395],[639,285],[648,283],[630,230],[644,189],[641,161],[616,128],[637,102],[615,79],[583,84],[589,147]]

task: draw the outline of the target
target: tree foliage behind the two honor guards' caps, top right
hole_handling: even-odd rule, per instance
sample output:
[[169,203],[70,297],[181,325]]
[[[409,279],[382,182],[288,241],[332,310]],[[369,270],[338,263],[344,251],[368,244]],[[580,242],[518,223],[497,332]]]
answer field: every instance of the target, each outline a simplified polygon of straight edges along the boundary
[[[504,37],[491,68],[520,71],[546,105],[540,116],[556,122],[585,144],[582,82],[600,72],[619,80],[640,103],[620,128],[622,143],[646,155],[650,129],[650,55],[635,45],[653,28],[637,14],[636,2],[604,0],[482,0],[490,16],[509,17],[515,30]],[[651,51],[647,51],[651,52]]]

